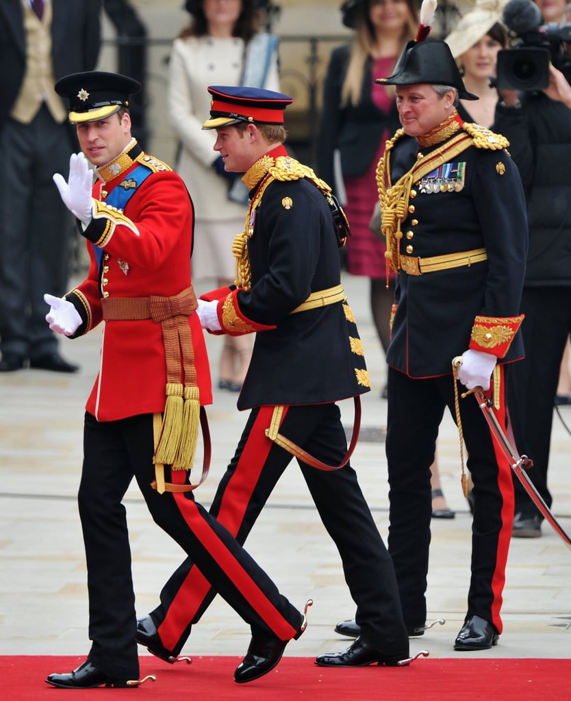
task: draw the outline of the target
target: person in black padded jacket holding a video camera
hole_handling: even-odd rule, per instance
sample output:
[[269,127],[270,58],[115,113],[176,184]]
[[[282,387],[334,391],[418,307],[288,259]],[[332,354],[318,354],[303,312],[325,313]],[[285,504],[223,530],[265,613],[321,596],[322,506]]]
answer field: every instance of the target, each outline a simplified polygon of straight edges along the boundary
[[[525,360],[514,363],[509,376],[509,406],[518,450],[532,458],[530,478],[549,506],[553,403],[571,330],[571,25],[563,23],[567,8],[565,0],[506,4],[504,24],[520,42],[498,54],[497,88],[504,99],[495,114],[495,130],[509,139],[520,170],[530,237],[520,308],[525,314]],[[542,517],[518,479],[514,486],[512,535],[537,538]]]

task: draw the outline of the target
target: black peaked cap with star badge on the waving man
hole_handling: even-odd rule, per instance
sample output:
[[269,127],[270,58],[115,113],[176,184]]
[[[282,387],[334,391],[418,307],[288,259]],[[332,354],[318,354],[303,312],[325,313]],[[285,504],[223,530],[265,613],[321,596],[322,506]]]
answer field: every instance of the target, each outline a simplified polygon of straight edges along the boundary
[[72,73],[55,83],[55,92],[69,102],[69,121],[74,124],[106,119],[129,107],[130,95],[140,89],[133,78],[105,71]]

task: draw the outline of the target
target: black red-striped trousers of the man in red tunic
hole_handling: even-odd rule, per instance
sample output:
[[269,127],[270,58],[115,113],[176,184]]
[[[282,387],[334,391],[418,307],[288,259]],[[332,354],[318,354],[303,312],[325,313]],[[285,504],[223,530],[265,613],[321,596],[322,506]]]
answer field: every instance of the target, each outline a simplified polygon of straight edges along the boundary
[[[79,514],[88,573],[89,660],[98,669],[116,679],[137,679],[139,674],[130,546],[121,503],[133,476],[154,521],[199,564],[253,634],[289,640],[300,632],[300,611],[231,533],[194,501],[192,492],[158,494],[152,489],[152,414],[109,422],[86,414],[83,449]],[[170,475],[167,470],[167,481],[185,478],[182,470]]]

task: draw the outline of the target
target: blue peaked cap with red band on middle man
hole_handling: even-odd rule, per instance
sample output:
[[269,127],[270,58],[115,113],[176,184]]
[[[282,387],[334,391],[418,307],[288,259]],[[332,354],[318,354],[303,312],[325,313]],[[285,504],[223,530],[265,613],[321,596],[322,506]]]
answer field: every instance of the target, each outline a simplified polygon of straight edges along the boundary
[[274,90],[248,86],[210,86],[210,119],[203,129],[220,129],[239,123],[283,124],[283,111],[293,97]]

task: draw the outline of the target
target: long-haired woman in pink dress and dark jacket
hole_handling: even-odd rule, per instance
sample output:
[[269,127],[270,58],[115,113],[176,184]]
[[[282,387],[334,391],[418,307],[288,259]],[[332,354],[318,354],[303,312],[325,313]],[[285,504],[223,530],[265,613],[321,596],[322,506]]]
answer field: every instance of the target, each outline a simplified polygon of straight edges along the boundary
[[[378,202],[377,162],[400,123],[394,88],[374,81],[392,74],[405,43],[414,38],[416,6],[414,0],[345,0],[342,4],[343,24],[356,32],[353,41],[331,53],[317,144],[318,175],[344,202],[351,226],[347,271],[370,279],[371,313],[384,351],[389,345],[394,282],[387,288],[386,246],[380,232],[375,236],[369,229],[369,222]],[[340,156],[342,183],[335,182],[335,151]]]

